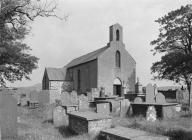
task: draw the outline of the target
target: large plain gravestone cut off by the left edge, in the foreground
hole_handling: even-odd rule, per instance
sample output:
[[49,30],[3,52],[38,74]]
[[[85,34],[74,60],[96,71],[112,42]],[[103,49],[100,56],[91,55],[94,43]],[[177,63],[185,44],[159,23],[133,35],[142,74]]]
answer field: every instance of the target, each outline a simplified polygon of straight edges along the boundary
[[17,137],[17,100],[6,91],[0,92],[1,139]]

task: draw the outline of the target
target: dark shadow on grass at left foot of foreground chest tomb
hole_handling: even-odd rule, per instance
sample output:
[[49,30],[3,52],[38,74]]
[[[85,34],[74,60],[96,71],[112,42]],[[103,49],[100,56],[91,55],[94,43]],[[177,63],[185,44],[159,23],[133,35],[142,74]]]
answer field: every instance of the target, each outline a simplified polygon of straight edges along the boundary
[[60,126],[56,127],[58,129],[59,133],[64,137],[64,138],[69,138],[73,136],[78,136],[77,133],[72,131],[68,126]]

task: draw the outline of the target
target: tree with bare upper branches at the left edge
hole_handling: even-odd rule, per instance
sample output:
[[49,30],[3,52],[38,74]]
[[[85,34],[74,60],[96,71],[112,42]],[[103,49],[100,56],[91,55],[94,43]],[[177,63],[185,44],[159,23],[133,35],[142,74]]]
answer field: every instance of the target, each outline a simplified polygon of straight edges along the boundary
[[0,86],[29,75],[38,67],[38,58],[23,42],[30,32],[30,21],[36,17],[54,16],[55,1],[1,0],[0,1]]

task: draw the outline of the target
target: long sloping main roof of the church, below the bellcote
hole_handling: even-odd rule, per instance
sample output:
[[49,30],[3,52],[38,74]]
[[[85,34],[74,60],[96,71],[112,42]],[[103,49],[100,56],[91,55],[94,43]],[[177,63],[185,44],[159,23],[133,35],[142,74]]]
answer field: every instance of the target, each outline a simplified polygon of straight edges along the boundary
[[107,48],[109,48],[109,46],[105,46],[103,48],[100,48],[98,50],[95,50],[93,52],[90,52],[86,55],[83,55],[83,56],[80,56],[76,59],[73,59],[71,62],[69,62],[66,67],[67,68],[70,68],[70,67],[73,67],[73,66],[76,66],[76,65],[79,65],[79,64],[82,64],[82,63],[86,63],[86,62],[89,62],[91,60],[95,60],[98,58],[99,55],[101,55]]

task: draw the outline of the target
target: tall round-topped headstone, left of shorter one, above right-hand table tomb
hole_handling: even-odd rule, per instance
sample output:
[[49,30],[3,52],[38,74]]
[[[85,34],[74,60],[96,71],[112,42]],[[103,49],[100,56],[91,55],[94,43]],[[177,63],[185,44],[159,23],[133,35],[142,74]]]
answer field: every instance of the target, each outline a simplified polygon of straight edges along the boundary
[[155,103],[154,87],[152,84],[146,86],[146,102]]

